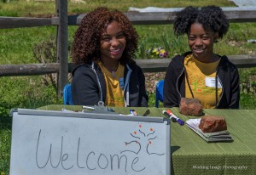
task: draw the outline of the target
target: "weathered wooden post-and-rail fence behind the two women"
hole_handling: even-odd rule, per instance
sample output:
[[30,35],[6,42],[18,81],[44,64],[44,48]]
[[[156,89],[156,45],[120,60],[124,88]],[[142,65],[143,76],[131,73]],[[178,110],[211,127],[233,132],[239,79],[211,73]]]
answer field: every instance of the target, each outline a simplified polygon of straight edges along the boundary
[[[170,12],[127,12],[127,17],[134,25],[163,25],[172,24],[177,9]],[[256,10],[227,8],[224,14],[230,22],[244,23],[256,22]],[[52,64],[28,64],[28,65],[0,65],[0,76],[32,76],[49,73],[59,74],[58,94],[68,81],[68,72],[72,71],[73,64],[68,63],[67,26],[79,25],[84,15],[67,15],[67,0],[56,1],[56,17],[53,18],[26,18],[26,17],[0,17],[0,29],[20,27],[36,27],[55,25],[57,27],[57,60],[59,63]],[[240,68],[256,67],[256,55],[229,55],[230,61]],[[137,59],[137,64],[145,72],[166,71],[170,59]]]

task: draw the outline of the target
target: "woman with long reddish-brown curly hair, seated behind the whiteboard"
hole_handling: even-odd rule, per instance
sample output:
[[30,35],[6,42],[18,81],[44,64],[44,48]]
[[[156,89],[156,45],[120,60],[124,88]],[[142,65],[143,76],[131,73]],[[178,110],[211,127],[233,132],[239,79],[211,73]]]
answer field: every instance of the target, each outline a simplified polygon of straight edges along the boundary
[[138,35],[118,10],[96,8],[75,32],[72,59],[74,104],[148,106],[145,77],[133,60]]

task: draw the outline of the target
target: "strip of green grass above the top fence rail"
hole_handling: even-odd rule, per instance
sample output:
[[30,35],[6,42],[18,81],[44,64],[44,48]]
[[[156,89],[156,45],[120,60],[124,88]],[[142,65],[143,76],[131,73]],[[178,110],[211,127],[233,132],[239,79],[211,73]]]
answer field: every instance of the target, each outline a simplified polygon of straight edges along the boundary
[[[0,16],[52,16],[55,14],[55,1],[37,0],[10,0],[10,3],[1,3]],[[235,4],[228,0],[84,0],[84,3],[72,3],[68,1],[69,14],[82,14],[89,12],[99,6],[118,8],[120,11],[127,11],[129,7],[146,8],[182,8],[185,6],[218,5],[220,7],[234,7]]]

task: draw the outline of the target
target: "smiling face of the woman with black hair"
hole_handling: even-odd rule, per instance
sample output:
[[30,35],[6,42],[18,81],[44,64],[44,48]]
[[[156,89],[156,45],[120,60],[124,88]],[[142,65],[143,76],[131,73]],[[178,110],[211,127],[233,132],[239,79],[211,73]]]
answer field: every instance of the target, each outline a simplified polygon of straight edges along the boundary
[[195,59],[204,63],[214,61],[213,43],[217,39],[211,31],[206,31],[201,24],[194,23],[188,34],[189,48]]

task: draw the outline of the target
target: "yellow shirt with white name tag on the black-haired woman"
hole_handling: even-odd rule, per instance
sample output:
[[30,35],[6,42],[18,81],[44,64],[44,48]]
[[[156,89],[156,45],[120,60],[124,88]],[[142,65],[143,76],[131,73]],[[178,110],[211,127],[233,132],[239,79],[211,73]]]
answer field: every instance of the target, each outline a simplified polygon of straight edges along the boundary
[[[193,54],[189,54],[184,59],[184,65],[188,73],[191,91],[194,94],[194,98],[200,99],[201,104],[205,109],[215,108],[215,76],[219,60],[220,59],[213,63],[202,63],[195,59]],[[185,97],[192,98],[187,77],[185,81]],[[222,88],[218,82],[218,100],[220,99],[221,93]]]

